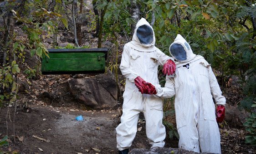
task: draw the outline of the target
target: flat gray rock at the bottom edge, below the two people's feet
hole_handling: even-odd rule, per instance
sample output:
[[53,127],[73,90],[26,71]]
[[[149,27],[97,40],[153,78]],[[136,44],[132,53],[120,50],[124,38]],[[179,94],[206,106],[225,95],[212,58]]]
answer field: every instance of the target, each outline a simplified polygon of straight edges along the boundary
[[[160,148],[154,147],[151,149],[132,149],[129,154],[199,154],[197,152],[187,151],[179,148]],[[207,154],[207,153],[200,153]]]

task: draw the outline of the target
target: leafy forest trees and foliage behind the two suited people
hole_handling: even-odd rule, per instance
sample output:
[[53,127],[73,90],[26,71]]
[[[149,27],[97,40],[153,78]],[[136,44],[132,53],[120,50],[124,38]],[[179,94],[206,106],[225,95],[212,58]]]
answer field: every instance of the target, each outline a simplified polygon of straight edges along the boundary
[[[253,0],[92,0],[93,10],[84,12],[87,0],[0,0],[0,107],[16,106],[19,101],[19,74],[27,78],[40,75],[40,63],[24,67],[25,55],[40,59],[50,48],[58,47],[60,31],[69,31],[74,45],[64,48],[91,48],[82,42],[82,26],[97,38],[97,48],[108,40],[112,58],[106,72],[118,77],[118,58],[123,44],[130,41],[136,22],[144,17],[154,28],[156,46],[169,55],[169,45],[177,34],[188,41],[193,52],[200,54],[215,69],[222,87],[236,82],[241,98],[228,102],[249,113],[246,144],[256,145],[256,4]],[[20,29],[22,34],[17,33]],[[120,39],[122,38],[122,39]],[[160,72],[160,71],[159,71]],[[164,77],[159,76],[164,84]],[[121,95],[120,95],[121,96]],[[173,100],[165,100],[173,103]],[[165,115],[171,115],[166,111]],[[166,126],[173,127],[166,122]],[[173,130],[173,131],[172,131]],[[170,129],[170,136],[177,136]],[[178,136],[177,136],[178,137]],[[8,144],[7,136],[0,146]]]

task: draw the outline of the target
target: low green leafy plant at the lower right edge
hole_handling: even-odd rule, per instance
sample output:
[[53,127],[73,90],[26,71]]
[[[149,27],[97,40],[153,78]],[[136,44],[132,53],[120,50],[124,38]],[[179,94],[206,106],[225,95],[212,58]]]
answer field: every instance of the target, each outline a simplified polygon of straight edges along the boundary
[[[256,102],[254,101],[254,108],[256,107]],[[246,135],[247,144],[251,144],[256,146],[256,113],[252,112],[250,117],[246,118],[246,122],[243,124],[246,127],[246,131],[248,131],[248,135]]]

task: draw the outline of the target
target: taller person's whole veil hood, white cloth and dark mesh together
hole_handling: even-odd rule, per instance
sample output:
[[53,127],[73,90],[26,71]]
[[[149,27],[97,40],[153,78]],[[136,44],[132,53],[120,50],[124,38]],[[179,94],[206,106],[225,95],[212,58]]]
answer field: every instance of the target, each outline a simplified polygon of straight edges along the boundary
[[148,21],[141,18],[136,24],[133,39],[128,45],[138,51],[152,52],[157,48],[155,45],[155,34]]

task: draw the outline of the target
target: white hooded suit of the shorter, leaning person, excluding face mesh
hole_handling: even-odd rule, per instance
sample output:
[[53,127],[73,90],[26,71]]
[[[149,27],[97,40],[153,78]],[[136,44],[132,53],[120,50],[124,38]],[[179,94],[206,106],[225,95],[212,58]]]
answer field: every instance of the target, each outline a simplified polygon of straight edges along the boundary
[[[220,132],[212,97],[216,104],[220,105],[225,104],[225,97],[221,95],[216,77],[205,58],[196,56],[179,34],[174,43],[183,46],[186,60],[175,60],[175,76],[166,76],[164,88],[156,86],[156,96],[170,98],[175,95],[179,148],[195,152],[200,152],[201,149],[201,152],[221,153]],[[183,67],[186,64],[189,64],[189,68]]]

